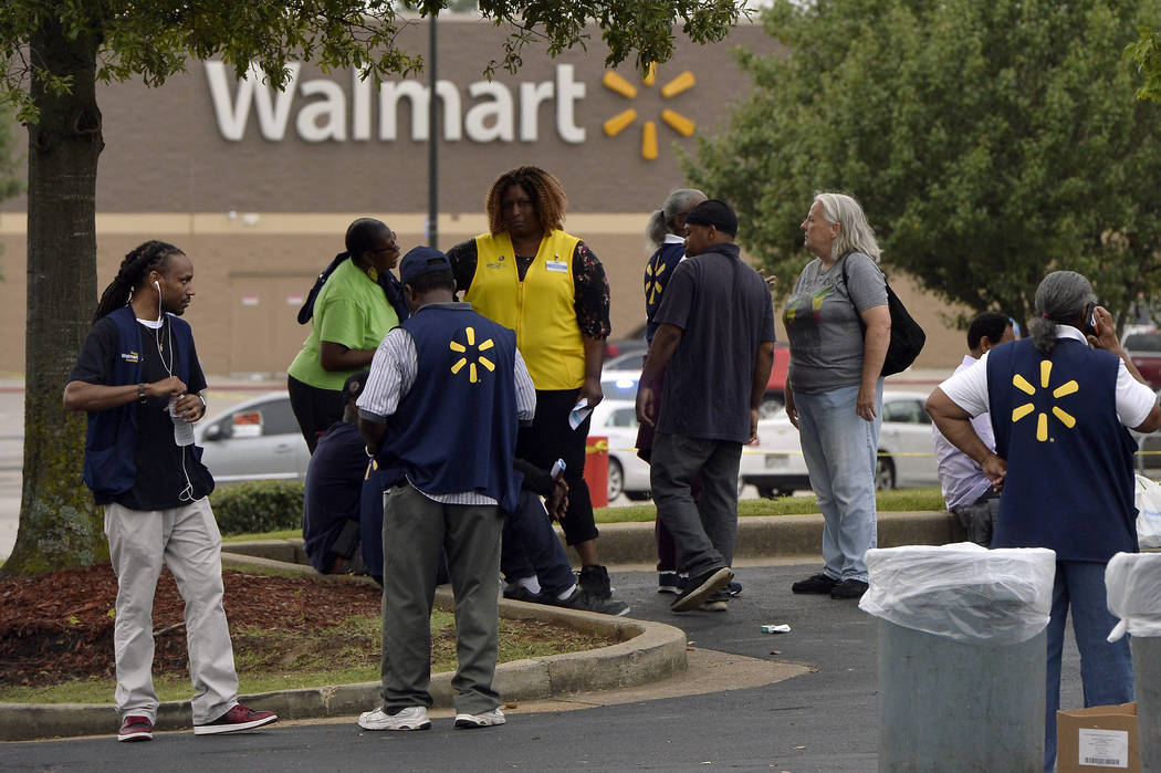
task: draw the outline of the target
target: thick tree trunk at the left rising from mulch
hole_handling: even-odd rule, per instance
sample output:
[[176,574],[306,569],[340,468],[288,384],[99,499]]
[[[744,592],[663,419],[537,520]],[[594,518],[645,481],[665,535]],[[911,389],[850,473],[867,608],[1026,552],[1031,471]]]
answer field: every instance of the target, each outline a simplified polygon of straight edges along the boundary
[[24,474],[20,530],[6,575],[35,575],[108,558],[102,519],[80,479],[85,416],[64,410],[64,385],[96,304],[96,107],[100,34],[70,38],[49,19],[31,62],[68,75],[51,94],[33,74],[39,122],[28,128],[28,318],[24,331]]

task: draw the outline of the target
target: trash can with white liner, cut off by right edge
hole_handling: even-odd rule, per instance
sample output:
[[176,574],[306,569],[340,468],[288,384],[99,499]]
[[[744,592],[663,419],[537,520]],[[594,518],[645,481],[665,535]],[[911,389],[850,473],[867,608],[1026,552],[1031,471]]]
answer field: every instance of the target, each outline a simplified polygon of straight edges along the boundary
[[1109,612],[1120,617],[1109,641],[1131,636],[1141,770],[1161,771],[1161,554],[1118,552],[1104,585]]

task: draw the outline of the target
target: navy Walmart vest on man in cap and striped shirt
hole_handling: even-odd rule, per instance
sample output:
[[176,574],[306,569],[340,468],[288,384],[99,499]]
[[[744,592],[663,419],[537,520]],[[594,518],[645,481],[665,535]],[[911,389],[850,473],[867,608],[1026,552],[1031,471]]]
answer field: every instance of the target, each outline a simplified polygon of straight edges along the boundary
[[424,306],[402,324],[418,355],[416,382],[388,419],[387,484],[404,476],[430,494],[476,491],[512,512],[520,476],[512,370],[515,333],[469,306]]

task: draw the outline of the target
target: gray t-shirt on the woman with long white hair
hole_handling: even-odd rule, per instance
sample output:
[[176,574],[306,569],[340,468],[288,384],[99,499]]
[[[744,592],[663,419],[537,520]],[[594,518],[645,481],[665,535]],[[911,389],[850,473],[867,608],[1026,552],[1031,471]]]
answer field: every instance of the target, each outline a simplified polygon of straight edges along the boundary
[[[843,284],[844,260],[849,287]],[[829,270],[822,269],[819,258],[807,263],[783,313],[791,345],[791,389],[816,393],[858,384],[863,380],[859,315],[884,305],[887,305],[886,280],[875,262],[861,252],[835,261]]]

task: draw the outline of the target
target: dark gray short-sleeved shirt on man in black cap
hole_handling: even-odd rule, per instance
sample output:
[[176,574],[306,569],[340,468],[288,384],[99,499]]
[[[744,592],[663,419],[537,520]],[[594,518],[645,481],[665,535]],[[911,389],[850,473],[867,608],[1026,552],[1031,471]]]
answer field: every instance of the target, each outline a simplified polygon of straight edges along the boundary
[[774,340],[774,311],[737,245],[714,251],[678,265],[654,315],[658,325],[683,331],[665,369],[657,431],[744,443],[753,363],[758,345]]

